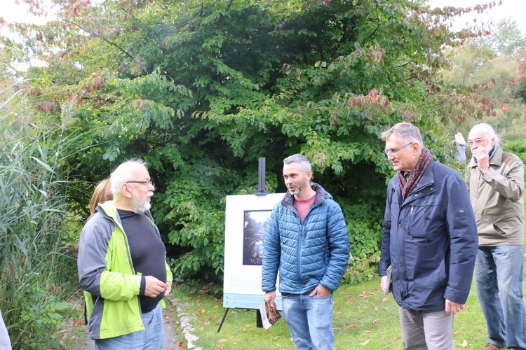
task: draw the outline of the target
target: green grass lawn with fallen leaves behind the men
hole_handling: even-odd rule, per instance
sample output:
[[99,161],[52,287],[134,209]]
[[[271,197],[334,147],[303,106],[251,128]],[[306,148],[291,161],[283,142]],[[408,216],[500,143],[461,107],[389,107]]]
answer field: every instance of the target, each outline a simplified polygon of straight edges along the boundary
[[[192,333],[198,337],[194,345],[202,349],[294,349],[283,319],[264,330],[256,327],[255,310],[230,309],[217,332],[226,310],[222,300],[205,293],[191,294],[184,286],[175,289],[177,302],[194,317]],[[485,319],[473,285],[466,306],[454,316],[455,346],[483,349],[487,343]],[[392,294],[383,295],[379,279],[341,286],[334,295],[333,314],[336,349],[403,349],[398,305]],[[186,348],[187,340],[180,330],[176,331],[180,334],[177,340]]]

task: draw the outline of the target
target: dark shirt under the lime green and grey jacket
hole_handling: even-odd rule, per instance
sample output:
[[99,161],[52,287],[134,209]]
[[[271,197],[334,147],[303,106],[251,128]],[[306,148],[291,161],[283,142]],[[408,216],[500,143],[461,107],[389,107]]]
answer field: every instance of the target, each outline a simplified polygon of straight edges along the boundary
[[144,295],[144,276],[154,276],[166,283],[166,249],[145,214],[135,214],[133,211],[121,209],[118,211],[130,244],[135,274],[140,273],[143,276],[139,296],[141,311],[149,312],[163,299],[164,293],[160,293],[157,297]]

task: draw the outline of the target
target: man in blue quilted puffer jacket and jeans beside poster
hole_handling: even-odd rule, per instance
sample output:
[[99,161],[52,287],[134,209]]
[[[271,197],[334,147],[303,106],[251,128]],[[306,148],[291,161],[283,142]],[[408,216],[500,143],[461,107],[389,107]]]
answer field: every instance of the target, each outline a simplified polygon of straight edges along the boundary
[[349,260],[342,209],[317,183],[303,155],[283,160],[288,188],[268,221],[263,246],[262,290],[274,307],[276,278],[283,319],[297,349],[334,349],[332,292]]

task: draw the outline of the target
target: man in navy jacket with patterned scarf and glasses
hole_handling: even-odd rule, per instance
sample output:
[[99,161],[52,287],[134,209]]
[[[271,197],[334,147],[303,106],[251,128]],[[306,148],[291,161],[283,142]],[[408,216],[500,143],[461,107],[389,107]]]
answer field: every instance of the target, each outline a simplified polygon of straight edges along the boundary
[[398,123],[381,138],[396,170],[387,186],[381,286],[392,283],[404,349],[455,349],[453,315],[464,309],[478,247],[466,185],[433,161],[414,125]]

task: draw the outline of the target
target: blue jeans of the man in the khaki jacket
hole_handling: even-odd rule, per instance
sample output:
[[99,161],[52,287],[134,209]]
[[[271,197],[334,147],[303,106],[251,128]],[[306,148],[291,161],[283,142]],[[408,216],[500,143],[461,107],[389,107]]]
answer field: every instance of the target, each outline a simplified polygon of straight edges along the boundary
[[526,349],[526,307],[522,298],[522,246],[482,246],[475,264],[478,302],[487,339],[508,349]]

